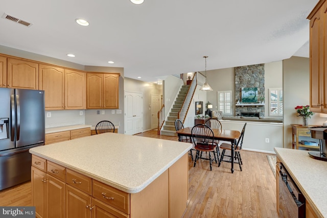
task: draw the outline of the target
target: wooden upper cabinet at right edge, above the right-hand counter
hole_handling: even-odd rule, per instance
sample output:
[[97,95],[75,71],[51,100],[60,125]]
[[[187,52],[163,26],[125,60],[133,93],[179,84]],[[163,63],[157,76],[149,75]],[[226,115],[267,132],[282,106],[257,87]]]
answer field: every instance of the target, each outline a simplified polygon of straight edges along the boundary
[[310,110],[327,113],[327,3],[320,1],[310,19]]

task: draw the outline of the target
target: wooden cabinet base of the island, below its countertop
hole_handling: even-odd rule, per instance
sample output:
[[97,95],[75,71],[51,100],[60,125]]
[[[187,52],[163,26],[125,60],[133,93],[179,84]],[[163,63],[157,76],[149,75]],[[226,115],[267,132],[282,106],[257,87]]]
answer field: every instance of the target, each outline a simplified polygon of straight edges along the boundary
[[[137,193],[121,191],[35,155],[32,160],[36,217],[182,217],[186,209],[188,154]],[[39,164],[42,160],[44,169]]]

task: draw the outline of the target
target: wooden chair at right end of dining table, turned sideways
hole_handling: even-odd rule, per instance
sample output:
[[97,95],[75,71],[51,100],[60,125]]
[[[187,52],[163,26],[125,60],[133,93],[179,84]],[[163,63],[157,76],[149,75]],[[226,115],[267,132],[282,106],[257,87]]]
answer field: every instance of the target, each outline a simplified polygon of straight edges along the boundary
[[[237,160],[238,162],[234,163],[238,163],[240,165],[240,169],[242,171],[242,166],[243,162],[242,162],[242,158],[241,158],[241,153],[240,151],[242,151],[242,145],[243,145],[243,138],[244,138],[244,132],[245,132],[245,127],[246,127],[246,123],[243,126],[242,132],[240,134],[240,138],[238,139],[238,141],[236,142],[236,144],[234,145],[234,159]],[[220,166],[221,161],[224,162],[231,162],[231,155],[226,155],[225,152],[226,150],[229,150],[231,152],[231,144],[230,143],[222,143],[220,145],[220,148],[223,150],[220,156],[220,160],[219,160],[219,164],[218,167]],[[229,157],[229,160],[224,160],[224,157]]]

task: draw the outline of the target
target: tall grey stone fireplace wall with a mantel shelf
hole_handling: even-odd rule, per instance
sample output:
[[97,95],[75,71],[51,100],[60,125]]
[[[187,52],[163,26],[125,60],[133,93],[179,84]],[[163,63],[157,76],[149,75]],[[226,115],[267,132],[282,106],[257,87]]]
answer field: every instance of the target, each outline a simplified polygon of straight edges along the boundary
[[[242,101],[241,90],[243,87],[257,87],[258,96],[265,96],[264,64],[235,67],[235,102]],[[259,113],[258,117],[265,116],[265,106],[258,104],[236,106],[235,114],[242,116],[241,113]]]

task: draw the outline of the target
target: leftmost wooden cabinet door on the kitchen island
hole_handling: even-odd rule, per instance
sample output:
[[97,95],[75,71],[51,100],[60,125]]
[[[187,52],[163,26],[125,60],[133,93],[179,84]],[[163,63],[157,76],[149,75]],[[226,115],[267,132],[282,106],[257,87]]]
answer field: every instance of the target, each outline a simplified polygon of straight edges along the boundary
[[32,206],[35,206],[36,217],[46,217],[46,173],[32,166]]

